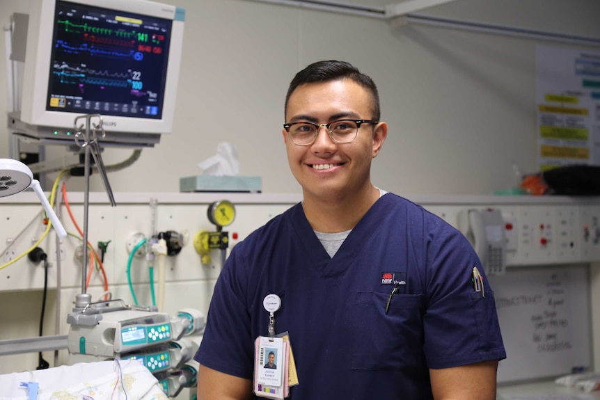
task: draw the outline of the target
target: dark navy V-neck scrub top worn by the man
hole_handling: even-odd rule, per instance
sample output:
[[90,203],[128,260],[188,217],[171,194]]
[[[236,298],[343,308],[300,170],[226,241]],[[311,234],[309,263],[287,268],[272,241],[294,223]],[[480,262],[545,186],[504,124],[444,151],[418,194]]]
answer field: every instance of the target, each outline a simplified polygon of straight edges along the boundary
[[252,379],[262,300],[277,294],[276,333],[289,334],[299,378],[290,399],[432,399],[429,368],[506,356],[494,293],[486,279],[484,297],[473,290],[479,265],[460,232],[393,193],[333,258],[295,205],[232,248],[196,360]]

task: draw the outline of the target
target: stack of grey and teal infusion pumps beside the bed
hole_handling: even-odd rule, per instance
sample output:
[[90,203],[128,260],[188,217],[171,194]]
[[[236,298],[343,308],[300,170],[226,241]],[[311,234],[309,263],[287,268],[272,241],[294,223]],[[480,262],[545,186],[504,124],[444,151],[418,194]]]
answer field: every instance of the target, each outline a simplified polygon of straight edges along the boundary
[[67,322],[70,364],[136,360],[157,377],[168,397],[196,384],[192,356],[197,346],[184,335],[203,330],[204,317],[198,310],[180,310],[171,317],[156,307],[103,301],[72,312]]

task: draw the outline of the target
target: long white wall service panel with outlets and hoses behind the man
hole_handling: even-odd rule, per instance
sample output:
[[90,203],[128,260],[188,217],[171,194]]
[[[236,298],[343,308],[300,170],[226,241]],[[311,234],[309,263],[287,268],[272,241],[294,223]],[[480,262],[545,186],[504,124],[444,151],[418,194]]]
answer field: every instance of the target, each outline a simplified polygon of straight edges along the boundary
[[[104,269],[109,279],[113,298],[122,298],[132,304],[127,285],[127,241],[132,234],[150,234],[150,198],[158,199],[156,206],[157,230],[187,232],[189,241],[180,254],[166,259],[166,298],[164,311],[175,314],[184,307],[193,307],[207,313],[212,288],[221,271],[221,254],[212,252],[210,263],[203,264],[194,250],[191,238],[200,230],[215,230],[207,219],[207,208],[216,200],[231,200],[236,207],[235,221],[225,228],[229,232],[230,248],[243,240],[260,225],[281,214],[301,200],[299,195],[248,195],[227,193],[115,193],[117,206],[110,207],[104,193],[90,193],[88,236],[97,248],[98,241],[110,241],[104,255]],[[466,209],[500,209],[505,223],[512,224],[510,249],[507,251],[508,271],[523,267],[544,268],[553,265],[588,264],[600,260],[600,201],[577,198],[532,198],[493,196],[413,196],[417,204],[441,216],[457,227],[457,216]],[[83,228],[83,195],[69,195],[72,212]],[[19,255],[39,239],[45,225],[36,216],[41,207],[33,193],[20,193],[0,199],[0,251],[6,243],[15,240],[13,250]],[[65,207],[61,219],[68,232],[75,228]],[[33,221],[33,223],[31,222]],[[26,225],[30,224],[29,227]],[[587,229],[586,229],[587,227]],[[26,229],[24,229],[26,228]],[[505,231],[506,232],[506,231]],[[586,234],[587,232],[587,234]],[[232,239],[234,235],[237,239]],[[546,243],[542,243],[546,239]],[[60,263],[54,259],[56,239],[54,232],[42,242],[51,259],[49,269],[49,300],[45,317],[45,335],[68,333],[66,316],[72,310],[74,297],[81,292],[81,259],[75,257],[81,241],[74,237],[63,239]],[[61,268],[61,290],[56,291],[56,273]],[[156,278],[155,264],[155,278]],[[592,274],[592,278],[596,275]],[[145,257],[134,257],[132,262],[134,291],[139,304],[152,303],[148,262]],[[156,285],[156,282],[155,282]],[[38,335],[38,321],[43,287],[43,269],[26,257],[0,269],[0,340]],[[155,286],[155,289],[157,287]],[[100,300],[104,293],[100,273],[93,271],[88,293]],[[58,296],[60,294],[60,296]],[[60,305],[58,305],[60,302]],[[56,308],[60,310],[58,328],[55,326]],[[598,314],[598,315],[597,315]],[[600,319],[600,312],[592,307],[592,319]],[[597,323],[597,322],[594,322]],[[594,325],[595,326],[595,325]],[[595,333],[594,337],[600,337]],[[52,362],[52,353],[45,354]],[[67,360],[66,351],[60,352],[59,363]],[[4,356],[0,373],[32,369],[37,365],[36,354]]]

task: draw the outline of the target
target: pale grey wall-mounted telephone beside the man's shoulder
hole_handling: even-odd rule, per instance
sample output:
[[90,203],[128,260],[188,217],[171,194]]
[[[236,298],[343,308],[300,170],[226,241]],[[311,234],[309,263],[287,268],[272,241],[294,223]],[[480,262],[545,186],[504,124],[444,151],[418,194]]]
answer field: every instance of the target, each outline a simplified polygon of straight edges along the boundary
[[459,211],[458,229],[475,249],[488,275],[504,273],[506,237],[499,209],[466,209]]

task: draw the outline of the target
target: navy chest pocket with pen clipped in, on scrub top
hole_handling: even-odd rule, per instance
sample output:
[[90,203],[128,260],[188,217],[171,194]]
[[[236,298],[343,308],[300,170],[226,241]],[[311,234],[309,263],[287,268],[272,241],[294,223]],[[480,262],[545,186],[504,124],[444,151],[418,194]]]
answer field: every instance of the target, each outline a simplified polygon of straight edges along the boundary
[[353,369],[418,368],[423,363],[423,295],[359,291],[354,304]]

